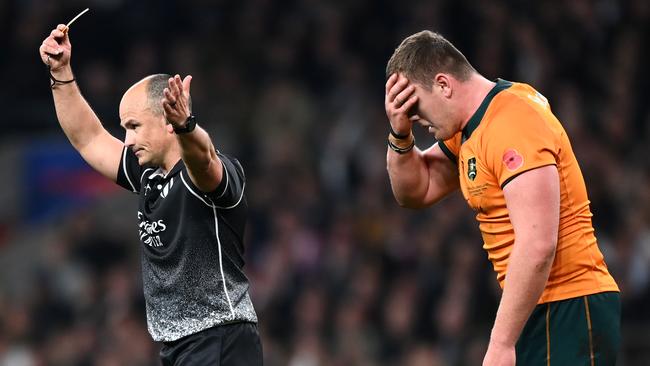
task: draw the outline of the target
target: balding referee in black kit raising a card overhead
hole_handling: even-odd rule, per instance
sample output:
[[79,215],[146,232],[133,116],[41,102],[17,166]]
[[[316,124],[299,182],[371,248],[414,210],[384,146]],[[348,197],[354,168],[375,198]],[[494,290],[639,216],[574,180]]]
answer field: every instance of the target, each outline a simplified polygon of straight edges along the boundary
[[122,97],[124,143],[75,83],[65,25],[43,41],[56,114],[95,170],[138,194],[147,325],[163,365],[261,365],[243,272],[245,177],[191,114],[191,76],[151,75]]

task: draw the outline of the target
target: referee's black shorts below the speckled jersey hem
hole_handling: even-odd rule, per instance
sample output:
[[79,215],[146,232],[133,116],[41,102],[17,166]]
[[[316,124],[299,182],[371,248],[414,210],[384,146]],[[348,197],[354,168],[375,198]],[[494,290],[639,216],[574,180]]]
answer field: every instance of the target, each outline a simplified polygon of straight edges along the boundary
[[162,342],[163,366],[260,366],[262,342],[255,323],[220,325]]

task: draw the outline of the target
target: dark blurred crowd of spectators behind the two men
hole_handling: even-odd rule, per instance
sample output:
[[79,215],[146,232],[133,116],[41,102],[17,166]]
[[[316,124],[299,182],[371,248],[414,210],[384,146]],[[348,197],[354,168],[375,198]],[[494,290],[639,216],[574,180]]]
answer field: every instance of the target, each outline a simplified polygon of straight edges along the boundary
[[[63,139],[38,47],[85,7],[72,65],[110,131],[133,82],[192,74],[199,123],[242,162],[266,365],[481,363],[500,290],[473,213],[458,192],[400,208],[385,170],[385,65],[422,29],[549,99],[622,290],[619,364],[650,364],[650,2],[2,0],[0,154]],[[29,196],[8,181],[0,199]],[[136,198],[102,196],[38,222],[0,210],[0,366],[159,364]]]

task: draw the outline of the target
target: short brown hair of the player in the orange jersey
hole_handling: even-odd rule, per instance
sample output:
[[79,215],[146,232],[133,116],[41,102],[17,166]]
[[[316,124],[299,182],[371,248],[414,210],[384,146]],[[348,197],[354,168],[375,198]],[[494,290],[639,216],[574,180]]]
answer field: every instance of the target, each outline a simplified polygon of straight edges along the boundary
[[476,72],[465,56],[439,33],[424,30],[406,37],[386,65],[386,77],[399,72],[431,88],[439,72],[466,81]]

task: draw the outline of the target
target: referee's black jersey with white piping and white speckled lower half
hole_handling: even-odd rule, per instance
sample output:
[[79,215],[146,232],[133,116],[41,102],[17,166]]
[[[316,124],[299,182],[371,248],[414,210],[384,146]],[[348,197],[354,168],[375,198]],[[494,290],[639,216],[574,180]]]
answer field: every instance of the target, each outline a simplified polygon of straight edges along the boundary
[[117,183],[140,197],[138,235],[149,333],[173,341],[223,323],[257,322],[243,272],[247,204],[239,162],[218,154],[214,192],[191,181],[183,160],[164,175],[124,148]]

